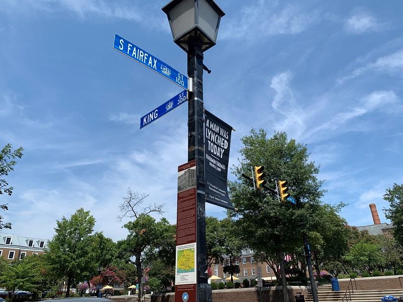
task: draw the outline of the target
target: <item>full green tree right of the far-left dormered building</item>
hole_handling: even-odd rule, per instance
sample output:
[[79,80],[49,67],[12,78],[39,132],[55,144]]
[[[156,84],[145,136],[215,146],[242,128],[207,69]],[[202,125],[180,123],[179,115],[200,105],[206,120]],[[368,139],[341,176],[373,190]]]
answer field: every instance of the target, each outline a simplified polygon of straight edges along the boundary
[[54,275],[67,278],[66,297],[69,297],[73,282],[88,278],[97,270],[91,249],[95,218],[80,208],[70,219],[63,216],[56,223],[56,234],[48,244],[47,257]]

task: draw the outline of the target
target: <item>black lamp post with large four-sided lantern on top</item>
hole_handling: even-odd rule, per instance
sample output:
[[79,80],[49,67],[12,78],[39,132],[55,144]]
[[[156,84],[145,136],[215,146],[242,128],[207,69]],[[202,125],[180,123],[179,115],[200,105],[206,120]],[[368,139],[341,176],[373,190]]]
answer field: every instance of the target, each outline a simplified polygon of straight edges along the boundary
[[173,0],[162,8],[174,42],[187,52],[187,75],[193,79],[188,104],[188,161],[196,161],[197,192],[197,301],[211,302],[207,282],[204,167],[203,52],[216,45],[220,19],[225,13],[213,0]]

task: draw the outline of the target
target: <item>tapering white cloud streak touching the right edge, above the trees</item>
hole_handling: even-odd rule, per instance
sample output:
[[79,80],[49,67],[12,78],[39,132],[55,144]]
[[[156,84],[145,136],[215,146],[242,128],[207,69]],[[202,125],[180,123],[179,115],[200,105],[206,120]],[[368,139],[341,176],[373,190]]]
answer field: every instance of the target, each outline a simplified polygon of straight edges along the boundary
[[370,71],[386,71],[386,72],[401,72],[403,68],[403,49],[400,49],[392,54],[379,57],[374,62],[367,63],[366,65],[355,69],[351,74],[339,79],[338,84],[342,84],[346,80],[359,77],[361,74]]

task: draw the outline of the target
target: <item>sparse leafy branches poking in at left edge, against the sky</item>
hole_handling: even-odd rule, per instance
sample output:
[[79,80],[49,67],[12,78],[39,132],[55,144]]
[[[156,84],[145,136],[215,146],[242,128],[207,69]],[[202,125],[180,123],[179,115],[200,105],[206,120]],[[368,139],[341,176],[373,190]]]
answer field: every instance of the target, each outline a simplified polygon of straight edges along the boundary
[[[18,149],[12,150],[12,145],[10,143],[6,144],[6,146],[0,152],[0,195],[6,194],[11,196],[13,194],[14,188],[9,186],[9,183],[4,179],[5,176],[9,175],[9,172],[14,170],[14,166],[17,164],[15,161],[16,158],[21,159],[23,154],[23,148],[19,147]],[[7,203],[0,204],[0,209],[8,210]],[[3,216],[0,215],[0,230],[2,229],[11,229],[10,222],[3,222]]]

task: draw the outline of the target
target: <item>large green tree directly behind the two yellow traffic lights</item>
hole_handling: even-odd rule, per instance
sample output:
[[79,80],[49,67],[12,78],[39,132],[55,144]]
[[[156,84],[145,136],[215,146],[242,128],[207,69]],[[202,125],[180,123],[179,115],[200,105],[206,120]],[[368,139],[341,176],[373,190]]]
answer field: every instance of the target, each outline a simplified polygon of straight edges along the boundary
[[[231,200],[238,208],[234,216],[242,225],[243,241],[282,264],[284,252],[292,253],[296,246],[302,245],[303,234],[317,228],[316,213],[324,194],[323,182],[316,177],[319,167],[309,161],[306,145],[288,140],[284,132],[275,132],[267,138],[263,129],[258,132],[252,129],[241,140],[241,159],[233,169],[238,181],[229,184]],[[242,177],[242,174],[250,175],[251,166],[265,167],[267,185],[272,189],[276,189],[276,184],[271,180],[287,180],[298,207],[290,202],[279,203],[277,196],[265,190],[254,190]],[[284,275],[282,282],[284,298],[288,301]]]

